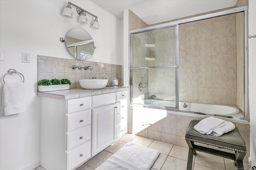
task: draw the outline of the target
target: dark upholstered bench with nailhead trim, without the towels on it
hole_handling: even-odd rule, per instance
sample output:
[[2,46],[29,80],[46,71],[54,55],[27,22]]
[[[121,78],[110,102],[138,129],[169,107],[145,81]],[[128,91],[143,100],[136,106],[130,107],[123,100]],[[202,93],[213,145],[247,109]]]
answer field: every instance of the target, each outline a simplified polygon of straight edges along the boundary
[[[229,133],[225,133],[220,137],[216,137],[213,135],[204,135],[194,130],[194,126],[198,122],[198,120],[192,120],[190,122],[190,125],[188,126],[185,135],[185,139],[186,142],[188,143],[189,148],[187,170],[192,170],[193,154],[196,154],[196,151],[206,152],[208,154],[213,154],[216,156],[232,159],[235,161],[235,164],[239,169],[244,168],[243,159],[244,156],[246,155],[246,145],[237,127]],[[203,147],[194,144],[194,142],[212,145],[218,148],[233,150],[234,153]]]

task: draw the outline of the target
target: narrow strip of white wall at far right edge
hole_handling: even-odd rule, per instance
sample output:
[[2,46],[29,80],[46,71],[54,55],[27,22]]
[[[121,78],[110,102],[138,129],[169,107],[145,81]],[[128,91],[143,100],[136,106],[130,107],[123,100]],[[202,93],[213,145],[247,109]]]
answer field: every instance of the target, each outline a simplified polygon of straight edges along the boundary
[[[248,2],[249,35],[256,35],[256,1]],[[250,111],[250,160],[256,161],[256,38],[248,39],[249,52],[249,111]]]

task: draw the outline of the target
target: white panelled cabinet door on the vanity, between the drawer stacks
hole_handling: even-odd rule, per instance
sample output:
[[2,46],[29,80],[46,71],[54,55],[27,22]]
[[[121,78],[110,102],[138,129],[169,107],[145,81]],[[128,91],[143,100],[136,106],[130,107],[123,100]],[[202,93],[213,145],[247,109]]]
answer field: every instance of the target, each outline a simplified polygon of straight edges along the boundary
[[114,143],[116,104],[92,109],[92,156]]

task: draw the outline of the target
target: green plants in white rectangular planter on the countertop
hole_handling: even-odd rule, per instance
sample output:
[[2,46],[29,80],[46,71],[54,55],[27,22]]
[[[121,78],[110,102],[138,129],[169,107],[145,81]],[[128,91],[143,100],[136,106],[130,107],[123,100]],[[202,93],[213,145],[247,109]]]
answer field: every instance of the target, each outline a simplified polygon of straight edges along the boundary
[[70,84],[71,82],[67,78],[62,78],[61,80],[57,78],[53,78],[52,80],[42,79],[37,83],[39,92],[67,90]]

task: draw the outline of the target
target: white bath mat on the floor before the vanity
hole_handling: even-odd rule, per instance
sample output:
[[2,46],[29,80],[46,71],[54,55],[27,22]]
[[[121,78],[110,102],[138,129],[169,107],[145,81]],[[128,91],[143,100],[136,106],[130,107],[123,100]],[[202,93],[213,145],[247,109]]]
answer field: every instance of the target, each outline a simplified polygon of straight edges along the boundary
[[150,170],[160,152],[126,143],[96,170]]

